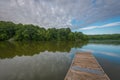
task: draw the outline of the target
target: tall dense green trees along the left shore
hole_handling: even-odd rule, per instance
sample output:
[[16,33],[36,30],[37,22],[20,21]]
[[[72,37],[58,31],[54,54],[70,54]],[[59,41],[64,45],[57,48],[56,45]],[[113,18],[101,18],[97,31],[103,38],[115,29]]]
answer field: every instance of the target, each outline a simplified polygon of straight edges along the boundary
[[82,32],[72,32],[70,28],[49,28],[32,24],[15,24],[0,21],[0,41],[87,41]]

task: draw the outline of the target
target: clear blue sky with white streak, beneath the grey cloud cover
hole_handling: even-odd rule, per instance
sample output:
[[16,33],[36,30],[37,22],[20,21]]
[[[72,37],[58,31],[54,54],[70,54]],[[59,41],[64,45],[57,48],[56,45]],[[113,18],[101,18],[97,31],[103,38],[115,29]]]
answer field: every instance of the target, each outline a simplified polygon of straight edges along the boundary
[[[73,20],[71,23],[74,26],[79,26],[83,22]],[[109,18],[100,22],[95,22],[83,28],[73,29],[72,31],[80,31],[84,34],[120,34],[120,16]]]

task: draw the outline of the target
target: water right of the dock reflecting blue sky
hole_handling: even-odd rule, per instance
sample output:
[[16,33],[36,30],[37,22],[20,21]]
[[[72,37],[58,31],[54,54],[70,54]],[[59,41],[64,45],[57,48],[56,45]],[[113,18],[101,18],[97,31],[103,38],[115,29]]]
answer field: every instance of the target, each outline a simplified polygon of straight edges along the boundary
[[[115,43],[115,42],[114,42]],[[119,43],[88,43],[82,48],[73,48],[77,52],[91,52],[94,54],[104,71],[111,80],[119,80],[120,72],[120,44]]]

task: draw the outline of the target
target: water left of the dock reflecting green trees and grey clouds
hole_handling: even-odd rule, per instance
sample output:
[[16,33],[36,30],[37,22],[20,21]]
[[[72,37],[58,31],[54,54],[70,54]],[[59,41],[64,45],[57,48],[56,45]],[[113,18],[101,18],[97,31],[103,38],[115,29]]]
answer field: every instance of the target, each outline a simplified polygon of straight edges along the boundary
[[0,42],[0,80],[64,80],[75,42]]

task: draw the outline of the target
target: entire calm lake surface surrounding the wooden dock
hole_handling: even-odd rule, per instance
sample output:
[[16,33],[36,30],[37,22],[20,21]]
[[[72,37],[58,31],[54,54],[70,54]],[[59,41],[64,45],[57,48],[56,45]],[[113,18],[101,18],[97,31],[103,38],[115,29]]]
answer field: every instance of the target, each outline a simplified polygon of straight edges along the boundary
[[111,80],[120,79],[117,42],[0,42],[0,80],[64,80],[76,52],[91,52]]

